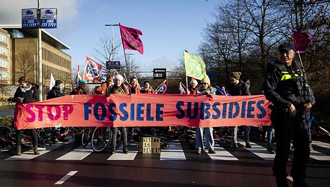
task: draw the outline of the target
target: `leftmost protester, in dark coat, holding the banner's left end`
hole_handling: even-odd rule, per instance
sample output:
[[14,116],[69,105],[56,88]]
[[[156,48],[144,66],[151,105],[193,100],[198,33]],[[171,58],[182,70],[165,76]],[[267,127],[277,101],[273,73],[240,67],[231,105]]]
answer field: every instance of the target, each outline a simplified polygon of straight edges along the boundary
[[[20,103],[32,103],[39,101],[39,86],[33,84],[29,81],[26,76],[20,77],[18,80],[20,87],[17,88],[14,94],[15,100]],[[32,134],[32,144],[34,146],[34,154],[40,154],[38,151],[38,135],[36,134],[36,129],[31,129]],[[16,147],[17,156],[22,154],[22,130],[16,130]]]

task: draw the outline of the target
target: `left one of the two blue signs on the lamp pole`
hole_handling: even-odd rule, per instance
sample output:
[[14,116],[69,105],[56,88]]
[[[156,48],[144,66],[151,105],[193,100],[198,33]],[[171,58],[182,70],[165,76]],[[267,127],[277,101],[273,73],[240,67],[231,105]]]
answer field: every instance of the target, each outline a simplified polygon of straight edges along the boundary
[[36,29],[38,28],[37,8],[22,9],[22,28]]

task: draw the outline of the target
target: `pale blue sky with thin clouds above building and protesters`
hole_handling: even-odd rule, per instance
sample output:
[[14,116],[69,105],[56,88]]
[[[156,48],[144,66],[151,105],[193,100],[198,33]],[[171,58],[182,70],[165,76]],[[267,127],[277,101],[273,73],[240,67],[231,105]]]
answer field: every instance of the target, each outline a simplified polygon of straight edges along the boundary
[[[72,68],[84,66],[85,56],[93,57],[103,33],[111,34],[118,24],[142,31],[144,54],[133,53],[140,70],[173,68],[183,50],[196,53],[206,23],[219,0],[41,0],[41,8],[57,8],[57,29],[47,29],[71,47],[64,50],[72,57]],[[21,24],[23,8],[37,8],[37,0],[0,0],[0,24]],[[115,40],[120,39],[115,27]],[[122,62],[124,63],[124,62]],[[82,68],[80,68],[82,70]]]

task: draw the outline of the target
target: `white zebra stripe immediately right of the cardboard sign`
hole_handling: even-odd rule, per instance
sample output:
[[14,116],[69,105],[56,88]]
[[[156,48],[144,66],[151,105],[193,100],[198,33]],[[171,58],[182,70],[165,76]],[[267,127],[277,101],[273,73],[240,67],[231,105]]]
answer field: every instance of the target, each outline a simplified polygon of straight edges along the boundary
[[160,160],[187,160],[187,158],[180,142],[177,140],[168,144],[168,149],[162,149],[160,151]]

